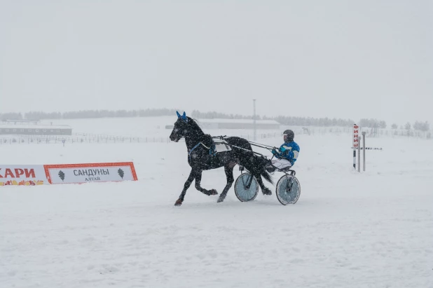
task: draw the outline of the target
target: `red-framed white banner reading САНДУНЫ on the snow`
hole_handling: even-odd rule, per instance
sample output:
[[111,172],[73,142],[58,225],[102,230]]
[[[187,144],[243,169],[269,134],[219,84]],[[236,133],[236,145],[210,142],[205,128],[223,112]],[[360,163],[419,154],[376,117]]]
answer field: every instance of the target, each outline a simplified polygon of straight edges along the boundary
[[50,184],[82,184],[105,181],[137,181],[134,163],[85,163],[44,165]]

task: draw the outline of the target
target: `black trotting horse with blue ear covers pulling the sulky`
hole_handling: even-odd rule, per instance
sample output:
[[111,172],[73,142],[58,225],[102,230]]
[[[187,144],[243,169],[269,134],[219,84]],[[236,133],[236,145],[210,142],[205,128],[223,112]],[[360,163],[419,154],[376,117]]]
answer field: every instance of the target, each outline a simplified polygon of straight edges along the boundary
[[178,142],[179,139],[185,137],[186,149],[188,150],[188,164],[191,166],[191,172],[188,179],[185,182],[184,190],[182,190],[179,199],[174,203],[176,206],[180,206],[184,202],[186,190],[191,186],[193,180],[195,180],[195,188],[198,191],[211,196],[217,195],[215,189],[206,190],[200,186],[202,179],[203,170],[211,170],[224,166],[226,172],[227,184],[224,187],[223,192],[219,196],[217,202],[224,201],[227,196],[228,189],[231,188],[233,181],[233,167],[236,164],[245,167],[256,177],[261,191],[265,195],[271,195],[272,192],[267,188],[261,179],[261,176],[273,183],[269,172],[266,170],[266,165],[269,164],[269,160],[256,156],[252,152],[251,145],[246,139],[240,137],[227,137],[224,138],[226,142],[231,146],[231,151],[222,151],[214,153],[212,136],[205,134],[195,121],[187,117],[185,112],[181,116],[177,112],[178,119],[174,123],[174,128],[170,134],[170,140]]

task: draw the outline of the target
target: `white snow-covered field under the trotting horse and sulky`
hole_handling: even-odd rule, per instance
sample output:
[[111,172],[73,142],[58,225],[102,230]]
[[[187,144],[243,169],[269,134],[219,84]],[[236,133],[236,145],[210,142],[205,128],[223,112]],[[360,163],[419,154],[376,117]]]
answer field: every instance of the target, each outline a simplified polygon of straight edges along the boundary
[[[113,135],[116,121],[74,132]],[[192,185],[174,207],[184,142],[1,146],[5,164],[133,161],[139,181],[1,187],[0,287],[433,287],[433,141],[367,139],[383,151],[357,173],[350,135],[295,140],[302,193],[288,206],[266,183],[273,196],[240,203],[232,186],[218,204]],[[225,183],[203,173],[205,188]]]

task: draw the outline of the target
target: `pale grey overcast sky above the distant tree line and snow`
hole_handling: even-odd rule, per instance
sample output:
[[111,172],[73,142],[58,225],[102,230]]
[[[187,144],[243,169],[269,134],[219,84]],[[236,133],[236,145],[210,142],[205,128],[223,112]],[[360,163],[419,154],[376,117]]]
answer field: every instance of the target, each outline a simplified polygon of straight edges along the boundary
[[0,0],[0,113],[433,123],[433,3]]

